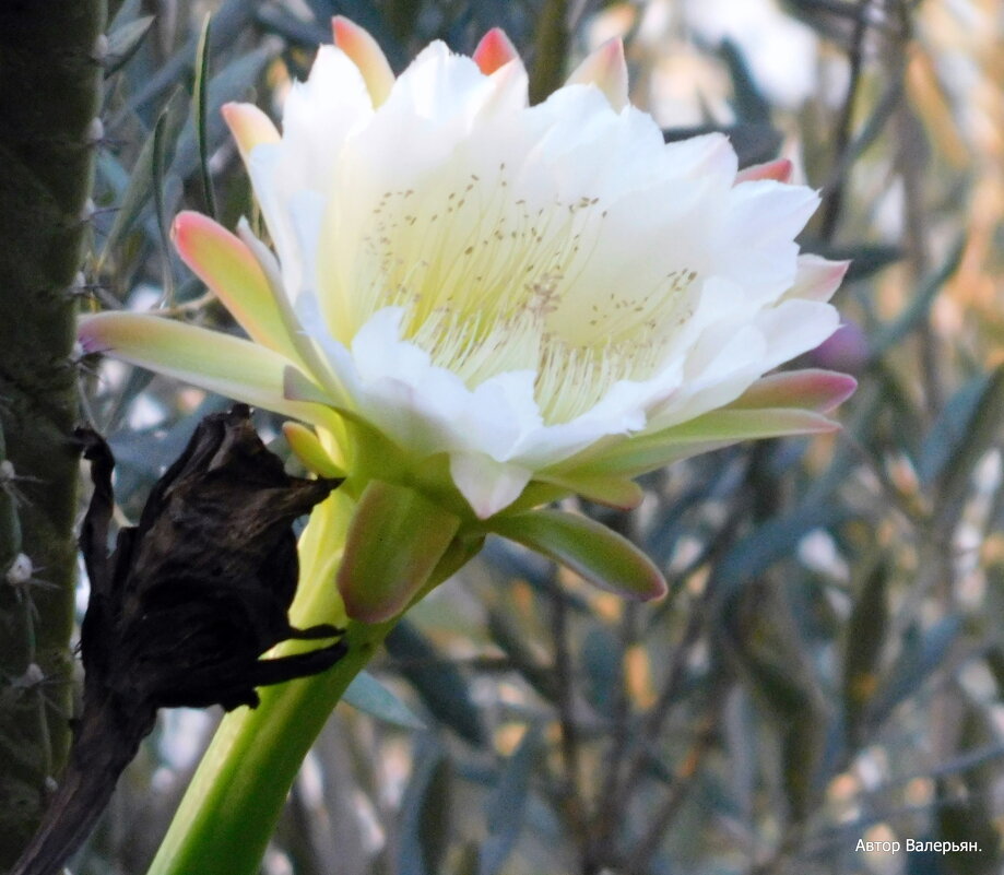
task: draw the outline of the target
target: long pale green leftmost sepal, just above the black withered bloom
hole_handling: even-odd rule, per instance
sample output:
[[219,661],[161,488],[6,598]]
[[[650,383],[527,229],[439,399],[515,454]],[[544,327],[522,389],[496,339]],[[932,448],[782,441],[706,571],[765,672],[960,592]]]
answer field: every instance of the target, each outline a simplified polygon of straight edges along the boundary
[[78,334],[88,353],[111,353],[133,365],[297,419],[328,424],[333,418],[318,404],[287,401],[283,373],[293,364],[240,338],[130,312],[84,317]]

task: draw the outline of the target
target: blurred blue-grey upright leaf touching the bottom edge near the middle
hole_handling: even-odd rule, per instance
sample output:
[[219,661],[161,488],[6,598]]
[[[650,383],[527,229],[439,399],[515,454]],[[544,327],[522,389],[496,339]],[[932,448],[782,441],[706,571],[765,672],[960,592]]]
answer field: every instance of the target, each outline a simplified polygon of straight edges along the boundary
[[530,783],[542,747],[540,726],[527,730],[488,797],[488,838],[481,846],[477,875],[497,875],[516,847],[525,819]]

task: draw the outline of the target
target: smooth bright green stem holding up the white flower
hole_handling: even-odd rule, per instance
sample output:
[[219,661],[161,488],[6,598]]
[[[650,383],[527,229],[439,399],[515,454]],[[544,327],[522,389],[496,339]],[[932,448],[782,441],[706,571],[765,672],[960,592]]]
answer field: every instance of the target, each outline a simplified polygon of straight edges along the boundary
[[[341,490],[339,490],[341,492]],[[351,502],[335,493],[316,509],[300,539],[300,626],[339,623],[334,584]],[[456,572],[480,542],[454,542],[418,598]],[[216,731],[149,875],[255,875],[300,764],[352,679],[373,659],[395,617],[346,624],[347,654],[315,677],[261,690],[257,709],[227,714]]]

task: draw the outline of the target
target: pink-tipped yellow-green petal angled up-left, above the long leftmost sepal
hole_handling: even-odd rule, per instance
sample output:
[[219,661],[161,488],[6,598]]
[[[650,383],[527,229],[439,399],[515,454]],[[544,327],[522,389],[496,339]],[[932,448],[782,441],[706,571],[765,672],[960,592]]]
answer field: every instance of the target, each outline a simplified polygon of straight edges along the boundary
[[170,234],[181,260],[220,296],[252,340],[298,360],[269,281],[240,238],[191,211],[178,213]]

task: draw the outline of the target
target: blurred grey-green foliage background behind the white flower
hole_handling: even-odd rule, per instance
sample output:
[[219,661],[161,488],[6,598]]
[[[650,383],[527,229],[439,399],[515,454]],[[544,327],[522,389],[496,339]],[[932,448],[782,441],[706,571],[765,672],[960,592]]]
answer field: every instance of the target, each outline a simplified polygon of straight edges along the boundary
[[[1002,871],[997,0],[110,7],[92,308],[229,324],[165,228],[182,206],[255,217],[220,106],[277,116],[333,14],[398,70],[433,38],[469,52],[501,25],[538,95],[621,35],[633,100],[669,139],[725,130],[744,165],[791,157],[823,196],[804,248],[853,259],[844,327],[800,363],[860,379],[844,433],[678,464],[631,513],[583,507],[666,570],[661,604],[492,543],[332,717],[265,873]],[[122,520],[226,404],[111,362],[84,363],[82,400],[119,458]],[[282,451],[279,421],[256,417]],[[216,719],[163,714],[76,871],[144,871]],[[980,852],[855,850],[907,838]]]

